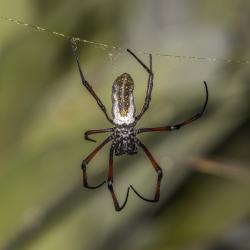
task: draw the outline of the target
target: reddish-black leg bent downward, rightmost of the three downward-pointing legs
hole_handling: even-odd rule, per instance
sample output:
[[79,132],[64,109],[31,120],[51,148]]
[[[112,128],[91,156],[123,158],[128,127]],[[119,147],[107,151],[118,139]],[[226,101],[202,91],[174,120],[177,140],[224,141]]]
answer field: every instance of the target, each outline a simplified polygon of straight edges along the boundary
[[152,166],[153,166],[155,172],[157,173],[157,183],[156,183],[154,198],[153,199],[145,198],[141,194],[139,194],[132,185],[130,185],[130,187],[133,189],[133,191],[136,193],[136,195],[139,196],[142,200],[148,201],[148,202],[157,202],[160,199],[161,180],[162,180],[162,176],[163,176],[162,169],[160,168],[160,166],[158,165],[158,163],[156,162],[156,160],[154,159],[152,154],[149,152],[149,150],[146,148],[146,146],[138,139],[136,140],[136,143],[146,153],[147,157],[149,158],[149,160],[152,163]]

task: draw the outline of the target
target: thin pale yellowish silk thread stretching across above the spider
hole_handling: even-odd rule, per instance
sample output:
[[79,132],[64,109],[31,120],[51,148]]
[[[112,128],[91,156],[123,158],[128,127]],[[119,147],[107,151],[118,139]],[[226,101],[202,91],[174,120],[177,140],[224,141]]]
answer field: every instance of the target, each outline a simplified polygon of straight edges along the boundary
[[[44,33],[48,33],[54,36],[58,36],[64,39],[73,39],[74,41],[77,42],[82,42],[85,44],[89,44],[89,45],[93,45],[97,48],[101,48],[104,50],[116,50],[118,51],[120,54],[123,54],[126,52],[126,48],[122,48],[119,46],[115,46],[115,45],[109,45],[109,44],[105,44],[105,43],[100,43],[100,42],[93,42],[90,40],[86,40],[86,39],[82,39],[80,37],[72,37],[69,35],[65,35],[63,33],[60,32],[56,32],[56,31],[51,31],[47,28],[43,28],[34,24],[29,24],[29,23],[25,23],[23,21],[19,21],[17,19],[13,19],[13,18],[9,18],[9,17],[4,17],[4,16],[0,16],[0,19],[8,21],[8,22],[12,22],[15,23],[17,25],[21,25],[21,26],[25,26],[25,27],[29,27],[32,28],[38,32],[44,32]],[[185,55],[174,55],[174,54],[165,54],[165,53],[151,53],[148,51],[140,51],[140,50],[133,50],[135,53],[138,54],[152,54],[155,56],[161,56],[161,57],[169,57],[169,58],[173,58],[173,59],[180,59],[180,60],[193,60],[193,61],[205,61],[205,62],[221,62],[221,63],[229,63],[229,64],[250,64],[250,59],[225,59],[225,58],[216,58],[216,57],[198,57],[198,56],[185,56]],[[112,55],[112,53],[110,53],[110,55]]]

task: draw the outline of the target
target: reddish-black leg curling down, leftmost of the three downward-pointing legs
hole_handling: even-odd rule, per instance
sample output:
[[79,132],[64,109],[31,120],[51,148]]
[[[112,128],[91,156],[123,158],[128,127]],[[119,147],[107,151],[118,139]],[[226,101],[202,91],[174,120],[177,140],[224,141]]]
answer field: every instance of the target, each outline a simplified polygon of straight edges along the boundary
[[97,186],[90,186],[88,184],[88,177],[87,177],[87,165],[89,164],[89,162],[94,158],[94,156],[97,154],[97,152],[105,145],[107,144],[109,141],[112,140],[112,136],[109,136],[108,138],[106,138],[99,146],[97,146],[82,162],[82,176],[83,176],[83,186],[89,189],[96,189],[99,188],[100,186],[102,186],[106,181],[103,181],[102,183],[100,183]]

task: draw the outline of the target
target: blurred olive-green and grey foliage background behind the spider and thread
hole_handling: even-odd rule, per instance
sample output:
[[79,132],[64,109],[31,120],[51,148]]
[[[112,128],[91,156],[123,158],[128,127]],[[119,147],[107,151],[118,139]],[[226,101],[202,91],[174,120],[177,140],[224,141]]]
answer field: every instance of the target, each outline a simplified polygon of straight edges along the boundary
[[[248,0],[0,1],[2,16],[71,36],[232,59],[250,58],[249,13]],[[126,53],[79,49],[107,109],[113,80],[129,72],[140,110],[147,82],[140,65]],[[81,85],[69,42],[0,20],[0,249],[250,249],[249,66],[153,57],[152,102],[139,127],[197,112],[203,80],[208,110],[177,132],[140,135],[164,171],[161,200],[148,204],[131,192],[117,213],[106,186],[81,186],[81,161],[95,147],[83,133],[110,124]],[[108,146],[90,164],[91,183],[107,169]],[[115,159],[121,201],[129,184],[153,195],[155,180],[142,152]]]

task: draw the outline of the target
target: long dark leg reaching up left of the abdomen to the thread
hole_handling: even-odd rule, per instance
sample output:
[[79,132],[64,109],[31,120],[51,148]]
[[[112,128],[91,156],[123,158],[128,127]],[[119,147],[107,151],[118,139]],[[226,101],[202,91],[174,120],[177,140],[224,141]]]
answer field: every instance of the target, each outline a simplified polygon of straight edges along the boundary
[[100,107],[100,109],[102,110],[102,112],[105,114],[105,116],[108,119],[108,121],[111,122],[112,124],[114,124],[113,121],[112,121],[112,119],[109,117],[109,115],[107,113],[106,107],[103,105],[102,101],[96,95],[96,93],[94,92],[94,90],[91,87],[91,85],[88,83],[88,81],[83,76],[83,72],[82,72],[82,69],[81,69],[81,66],[80,66],[80,62],[79,62],[78,48],[77,48],[76,41],[72,38],[70,40],[70,42],[71,42],[73,53],[74,53],[74,56],[75,56],[75,59],[76,59],[76,63],[77,63],[78,69],[79,69],[79,73],[80,73],[80,76],[81,76],[82,84],[86,87],[86,89],[89,91],[89,93],[95,98],[98,106]]

